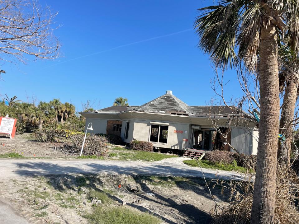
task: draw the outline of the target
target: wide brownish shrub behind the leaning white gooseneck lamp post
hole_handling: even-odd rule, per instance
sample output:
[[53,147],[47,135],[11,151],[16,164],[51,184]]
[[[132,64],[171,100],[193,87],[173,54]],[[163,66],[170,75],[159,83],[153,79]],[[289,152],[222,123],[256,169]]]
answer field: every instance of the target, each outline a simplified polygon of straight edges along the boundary
[[[64,148],[72,153],[81,152],[83,134],[69,135],[68,143]],[[98,135],[87,135],[84,143],[83,155],[85,156],[104,156],[107,153],[107,139]]]

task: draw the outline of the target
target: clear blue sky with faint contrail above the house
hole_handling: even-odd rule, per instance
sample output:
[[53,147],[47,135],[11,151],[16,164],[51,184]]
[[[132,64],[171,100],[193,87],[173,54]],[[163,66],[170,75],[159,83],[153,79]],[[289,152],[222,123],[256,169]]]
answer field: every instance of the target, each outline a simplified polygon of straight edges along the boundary
[[[63,57],[52,61],[5,63],[0,92],[60,98],[80,111],[112,105],[116,97],[141,105],[172,90],[188,105],[205,105],[215,94],[209,56],[197,48],[197,8],[212,1],[41,1],[59,11],[55,35]],[[204,5],[205,4],[205,5]],[[89,55],[89,56],[88,56]],[[76,59],[77,58],[77,59]],[[227,96],[240,96],[235,72],[227,71]]]

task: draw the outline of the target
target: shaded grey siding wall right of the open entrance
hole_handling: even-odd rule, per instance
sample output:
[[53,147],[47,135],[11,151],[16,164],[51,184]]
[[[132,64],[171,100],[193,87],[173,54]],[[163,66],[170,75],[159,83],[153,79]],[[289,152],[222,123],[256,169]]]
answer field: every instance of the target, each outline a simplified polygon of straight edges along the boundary
[[[231,130],[231,146],[240,153],[252,154],[253,138],[252,130],[244,130],[242,128],[232,128]],[[231,152],[235,152],[231,149]]]

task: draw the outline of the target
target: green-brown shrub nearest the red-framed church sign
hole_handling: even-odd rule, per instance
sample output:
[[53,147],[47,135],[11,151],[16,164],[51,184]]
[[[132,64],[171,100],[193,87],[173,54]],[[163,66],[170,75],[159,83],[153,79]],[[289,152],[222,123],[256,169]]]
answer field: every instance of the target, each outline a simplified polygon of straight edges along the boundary
[[55,124],[45,125],[44,128],[37,128],[32,135],[39,142],[60,142],[60,138],[65,136],[64,130],[57,129]]

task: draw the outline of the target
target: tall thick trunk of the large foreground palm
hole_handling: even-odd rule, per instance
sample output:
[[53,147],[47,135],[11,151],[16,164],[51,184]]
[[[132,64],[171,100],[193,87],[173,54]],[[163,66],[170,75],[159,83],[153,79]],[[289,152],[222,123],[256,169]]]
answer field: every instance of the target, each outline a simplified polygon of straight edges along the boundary
[[279,80],[277,33],[273,25],[261,28],[260,122],[251,224],[274,223],[277,134],[279,124]]

